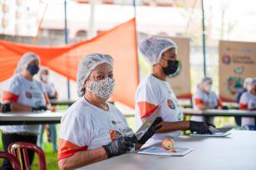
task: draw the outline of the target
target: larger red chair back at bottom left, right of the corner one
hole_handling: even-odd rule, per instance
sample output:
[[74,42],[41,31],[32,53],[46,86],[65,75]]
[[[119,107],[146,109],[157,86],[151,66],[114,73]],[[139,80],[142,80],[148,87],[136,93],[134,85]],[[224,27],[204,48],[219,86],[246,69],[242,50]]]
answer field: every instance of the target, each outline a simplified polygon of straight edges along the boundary
[[30,163],[29,158],[27,154],[27,149],[32,150],[33,152],[37,153],[38,156],[38,162],[39,162],[39,170],[46,170],[47,169],[47,163],[45,155],[41,148],[37,147],[37,145],[33,143],[25,143],[25,142],[17,142],[17,143],[11,143],[8,146],[8,152],[14,154],[20,161],[22,165],[22,153],[25,163],[25,170],[30,170]]

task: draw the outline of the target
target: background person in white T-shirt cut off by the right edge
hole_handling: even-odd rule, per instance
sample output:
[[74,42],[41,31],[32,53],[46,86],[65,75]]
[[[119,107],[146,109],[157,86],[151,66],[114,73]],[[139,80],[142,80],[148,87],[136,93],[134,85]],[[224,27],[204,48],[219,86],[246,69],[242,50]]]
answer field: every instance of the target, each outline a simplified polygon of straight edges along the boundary
[[[251,81],[248,92],[245,92],[239,101],[239,109],[256,110],[256,78]],[[251,126],[255,127],[255,119],[249,117],[242,117],[242,127]]]

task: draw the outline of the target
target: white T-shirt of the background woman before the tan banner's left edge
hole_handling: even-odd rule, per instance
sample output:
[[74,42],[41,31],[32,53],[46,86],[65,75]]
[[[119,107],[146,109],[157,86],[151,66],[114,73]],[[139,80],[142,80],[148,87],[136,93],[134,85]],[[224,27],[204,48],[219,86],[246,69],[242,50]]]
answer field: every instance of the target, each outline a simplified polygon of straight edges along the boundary
[[[217,97],[217,95],[213,92],[210,91],[209,94],[206,94],[203,90],[197,90],[195,92],[195,94],[193,95],[192,98],[192,102],[193,102],[193,109],[199,109],[198,108],[198,104],[204,104],[207,106],[211,106],[213,108],[217,108],[219,106],[219,99]],[[194,121],[205,121],[204,116],[197,116],[197,115],[193,115],[191,116],[191,120]],[[213,117],[210,120],[210,123],[213,123]]]

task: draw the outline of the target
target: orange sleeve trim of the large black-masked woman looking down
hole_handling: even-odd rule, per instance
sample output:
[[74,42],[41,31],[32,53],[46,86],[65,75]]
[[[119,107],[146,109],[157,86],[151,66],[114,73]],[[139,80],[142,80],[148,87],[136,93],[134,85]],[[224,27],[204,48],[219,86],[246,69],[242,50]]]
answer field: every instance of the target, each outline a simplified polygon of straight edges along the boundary
[[159,107],[158,105],[150,104],[146,101],[140,101],[138,102],[138,105],[140,108],[140,118],[149,117],[155,112],[155,109]]

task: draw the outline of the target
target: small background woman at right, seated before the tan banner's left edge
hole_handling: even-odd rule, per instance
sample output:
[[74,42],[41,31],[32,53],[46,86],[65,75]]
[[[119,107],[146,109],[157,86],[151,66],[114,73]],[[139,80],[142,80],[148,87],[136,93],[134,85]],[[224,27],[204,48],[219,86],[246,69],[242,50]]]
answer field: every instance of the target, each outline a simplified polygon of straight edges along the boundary
[[[213,80],[204,77],[199,83],[198,90],[193,95],[193,109],[222,109],[222,104],[217,95],[212,91]],[[205,118],[204,116],[194,115],[192,120],[214,123],[214,117]]]

